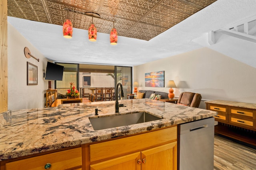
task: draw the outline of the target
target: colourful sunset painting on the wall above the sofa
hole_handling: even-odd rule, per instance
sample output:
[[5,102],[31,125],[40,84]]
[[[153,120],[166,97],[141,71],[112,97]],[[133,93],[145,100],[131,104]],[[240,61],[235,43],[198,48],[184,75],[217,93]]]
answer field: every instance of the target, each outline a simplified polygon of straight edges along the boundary
[[164,71],[145,73],[145,87],[164,87]]

